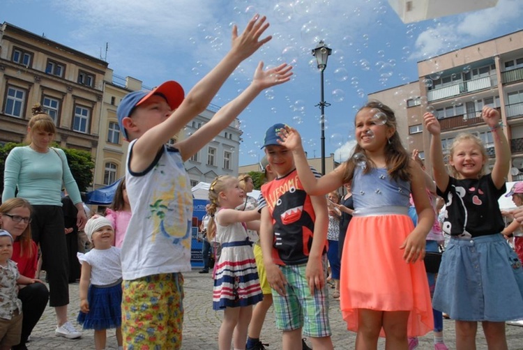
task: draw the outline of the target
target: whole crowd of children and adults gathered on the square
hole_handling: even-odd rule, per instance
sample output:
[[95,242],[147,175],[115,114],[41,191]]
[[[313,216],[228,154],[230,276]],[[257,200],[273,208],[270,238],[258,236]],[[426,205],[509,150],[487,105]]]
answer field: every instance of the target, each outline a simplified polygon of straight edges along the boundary
[[[6,159],[0,349],[26,349],[47,301],[56,313],[56,335],[80,337],[67,317],[68,282],[77,277],[77,321],[94,330],[97,350],[105,349],[109,328],[116,330],[119,349],[182,348],[183,273],[191,269],[192,239],[183,162],[261,91],[289,82],[292,67],[264,70],[260,62],[250,85],[209,123],[168,142],[209,105],[238,64],[271,40],[262,37],[267,28],[259,15],[240,35],[234,26],[232,49],[186,96],[169,81],[121,100],[116,114],[130,141],[126,176],[105,216],[87,220],[66,155],[51,146],[54,123],[34,108],[27,146]],[[260,197],[248,196],[248,174],[218,176],[209,188],[200,273],[211,270],[212,251],[212,307],[223,311],[218,348],[264,350],[261,329],[272,305],[282,349],[311,349],[305,338],[313,349],[333,349],[328,309],[339,300],[356,349],[377,349],[385,337],[387,349],[411,350],[429,332],[434,349],[447,349],[442,312],[455,322],[457,349],[475,349],[478,322],[489,349],[508,349],[505,321],[523,319],[523,208],[499,209],[510,149],[499,113],[483,107],[482,117],[494,135],[490,173],[485,146],[471,134],[455,138],[446,162],[439,121],[425,113],[433,178],[418,153],[402,146],[393,109],[378,101],[356,113],[354,153],[324,176],[308,165],[296,129],[285,123],[268,128]],[[508,195],[522,206],[523,185]],[[508,227],[503,215],[513,220]],[[92,245],[85,254],[68,249],[77,241],[68,234],[78,230]],[[437,252],[444,235],[441,264],[437,273],[428,271],[425,254]],[[39,255],[49,289],[36,278]],[[500,295],[510,295],[511,303]]]

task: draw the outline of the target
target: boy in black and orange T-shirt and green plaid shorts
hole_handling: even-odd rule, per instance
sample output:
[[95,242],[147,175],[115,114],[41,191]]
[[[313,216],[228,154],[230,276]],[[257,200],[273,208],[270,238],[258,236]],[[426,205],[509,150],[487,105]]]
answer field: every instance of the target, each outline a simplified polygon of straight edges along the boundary
[[[285,124],[268,128],[265,154],[276,178],[261,186],[260,241],[273,294],[282,349],[333,349],[328,320],[327,227],[325,196],[310,196],[298,178],[292,152],[280,144]],[[317,177],[321,176],[313,169]]]

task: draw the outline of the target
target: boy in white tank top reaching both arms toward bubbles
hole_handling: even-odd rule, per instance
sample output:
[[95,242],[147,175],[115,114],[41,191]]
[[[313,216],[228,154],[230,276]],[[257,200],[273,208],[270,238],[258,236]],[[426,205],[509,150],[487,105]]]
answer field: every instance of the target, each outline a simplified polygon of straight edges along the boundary
[[130,140],[126,187],[132,209],[121,247],[123,272],[122,333],[128,348],[181,349],[183,271],[190,271],[192,194],[183,167],[199,149],[225,129],[264,89],[289,81],[291,67],[263,70],[197,132],[166,146],[169,139],[209,105],[225,79],[270,36],[265,17],[250,20],[232,50],[183,98],[177,82],[165,82],[150,93],[136,91],[123,98],[116,114]]

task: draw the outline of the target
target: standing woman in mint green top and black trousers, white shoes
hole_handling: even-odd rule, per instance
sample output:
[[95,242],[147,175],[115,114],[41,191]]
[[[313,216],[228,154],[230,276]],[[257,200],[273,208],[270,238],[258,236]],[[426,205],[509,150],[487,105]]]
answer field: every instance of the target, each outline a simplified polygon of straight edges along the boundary
[[78,208],[77,226],[80,229],[85,225],[86,214],[66,154],[50,147],[56,134],[54,121],[39,104],[32,111],[26,137],[29,146],[15,147],[6,158],[2,201],[15,197],[15,190],[18,190],[16,197],[26,199],[33,206],[31,232],[33,241],[42,250],[50,285],[49,304],[55,308],[58,323],[55,333],[73,339],[82,333],[67,320],[69,261],[61,210],[62,184]]

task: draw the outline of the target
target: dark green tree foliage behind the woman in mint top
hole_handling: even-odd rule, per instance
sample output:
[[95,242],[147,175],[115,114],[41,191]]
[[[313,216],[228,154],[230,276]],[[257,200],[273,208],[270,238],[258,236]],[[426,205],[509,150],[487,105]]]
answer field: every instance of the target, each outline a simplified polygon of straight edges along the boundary
[[[6,167],[6,158],[9,152],[17,146],[25,145],[9,142],[8,144],[0,146],[0,172],[2,176],[2,181],[0,181],[0,192],[3,192],[3,172]],[[93,183],[94,162],[91,158],[91,153],[79,149],[63,149],[56,145],[54,145],[54,147],[62,149],[63,152],[66,153],[69,168],[71,169],[71,173],[75,178],[78,188],[80,192],[85,192],[91,183]]]

